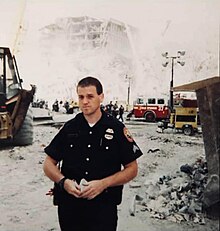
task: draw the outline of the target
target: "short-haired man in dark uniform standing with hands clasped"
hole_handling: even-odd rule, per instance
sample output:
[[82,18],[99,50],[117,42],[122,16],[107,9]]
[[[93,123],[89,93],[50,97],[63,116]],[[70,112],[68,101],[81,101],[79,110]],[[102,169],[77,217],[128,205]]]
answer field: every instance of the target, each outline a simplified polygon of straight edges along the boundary
[[137,175],[142,152],[124,124],[100,109],[104,94],[98,79],[83,78],[77,94],[82,113],[45,148],[43,169],[59,186],[61,230],[115,231],[123,185]]

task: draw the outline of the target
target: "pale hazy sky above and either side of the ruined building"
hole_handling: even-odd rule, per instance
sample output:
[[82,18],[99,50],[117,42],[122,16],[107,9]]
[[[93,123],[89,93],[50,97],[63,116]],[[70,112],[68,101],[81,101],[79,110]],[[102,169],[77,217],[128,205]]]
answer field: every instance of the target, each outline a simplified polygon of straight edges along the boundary
[[[0,9],[0,45],[15,51],[19,41],[25,41],[28,53],[34,54],[39,29],[56,18],[113,18],[140,30],[140,52],[150,60],[152,69],[161,67],[161,53],[176,55],[178,50],[185,50],[187,65],[178,69],[180,76],[194,80],[219,75],[220,0],[0,0]],[[22,34],[25,38],[19,37],[19,25],[26,30]],[[198,75],[191,71],[204,62],[210,63],[206,71]],[[27,70],[27,65],[21,69]],[[162,71],[152,76],[169,78],[170,72]],[[184,81],[184,77],[177,79],[178,84]]]

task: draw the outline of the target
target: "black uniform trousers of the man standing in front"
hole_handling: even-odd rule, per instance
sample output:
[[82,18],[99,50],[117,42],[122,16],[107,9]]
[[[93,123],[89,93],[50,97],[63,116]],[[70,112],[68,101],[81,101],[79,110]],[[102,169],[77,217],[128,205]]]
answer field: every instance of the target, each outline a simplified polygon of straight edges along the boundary
[[117,205],[84,200],[74,206],[58,206],[62,231],[116,231]]

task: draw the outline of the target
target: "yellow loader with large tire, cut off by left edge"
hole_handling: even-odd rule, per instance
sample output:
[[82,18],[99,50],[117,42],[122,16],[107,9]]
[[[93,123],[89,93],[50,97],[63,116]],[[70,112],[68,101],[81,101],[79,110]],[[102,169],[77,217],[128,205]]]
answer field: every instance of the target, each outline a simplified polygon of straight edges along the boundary
[[35,86],[22,87],[15,56],[0,47],[0,144],[29,145],[33,142],[33,115],[30,103]]

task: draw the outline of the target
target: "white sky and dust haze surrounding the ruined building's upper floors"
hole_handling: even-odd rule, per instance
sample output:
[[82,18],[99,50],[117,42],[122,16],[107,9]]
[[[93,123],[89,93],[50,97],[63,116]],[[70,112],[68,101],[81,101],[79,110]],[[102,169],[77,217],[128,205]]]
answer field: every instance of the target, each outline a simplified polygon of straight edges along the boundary
[[125,75],[131,75],[120,57],[88,51],[70,58],[59,44],[49,67],[40,52],[39,29],[60,17],[113,18],[140,30],[130,102],[138,95],[168,96],[171,65],[162,67],[165,51],[174,56],[178,50],[186,51],[185,66],[174,66],[174,85],[219,75],[217,0],[0,0],[0,6],[4,9],[0,46],[14,49],[26,85],[36,84],[38,98],[50,102],[75,97],[75,84],[86,75],[102,80],[106,101],[126,101]]

